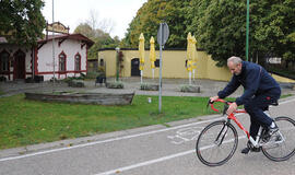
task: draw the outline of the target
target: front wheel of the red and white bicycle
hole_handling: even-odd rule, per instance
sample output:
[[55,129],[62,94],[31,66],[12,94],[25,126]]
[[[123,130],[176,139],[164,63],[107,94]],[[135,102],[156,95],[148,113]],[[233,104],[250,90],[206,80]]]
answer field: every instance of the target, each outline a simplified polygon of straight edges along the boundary
[[235,153],[238,136],[235,127],[226,121],[215,121],[200,133],[196,152],[199,160],[208,166],[220,166]]

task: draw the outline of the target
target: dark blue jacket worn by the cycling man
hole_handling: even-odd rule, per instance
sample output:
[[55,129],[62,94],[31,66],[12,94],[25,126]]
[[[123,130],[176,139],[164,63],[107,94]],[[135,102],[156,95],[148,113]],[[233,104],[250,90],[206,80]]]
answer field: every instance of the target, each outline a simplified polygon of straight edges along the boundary
[[278,82],[261,66],[241,61],[241,72],[239,75],[233,75],[231,82],[219,92],[219,97],[224,98],[234,93],[239,85],[243,85],[244,94],[236,98],[237,105],[244,105],[255,95],[278,93],[281,94],[281,88]]

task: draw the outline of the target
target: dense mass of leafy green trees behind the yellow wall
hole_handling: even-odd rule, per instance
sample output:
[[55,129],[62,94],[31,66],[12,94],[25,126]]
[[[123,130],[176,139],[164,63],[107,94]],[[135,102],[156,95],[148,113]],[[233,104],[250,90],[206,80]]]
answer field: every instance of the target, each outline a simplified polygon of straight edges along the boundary
[[[170,34],[166,48],[186,48],[191,32],[198,48],[224,66],[233,55],[245,59],[246,5],[245,0],[149,0],[129,24],[121,45],[138,47],[140,33],[155,37],[158,24],[166,22]],[[263,62],[269,55],[295,60],[294,19],[294,0],[251,0],[250,60]]]

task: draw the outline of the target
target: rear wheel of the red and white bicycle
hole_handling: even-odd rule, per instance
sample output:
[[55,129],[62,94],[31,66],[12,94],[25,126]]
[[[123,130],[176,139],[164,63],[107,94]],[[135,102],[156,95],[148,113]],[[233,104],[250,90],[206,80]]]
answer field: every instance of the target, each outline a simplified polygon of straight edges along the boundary
[[274,120],[279,131],[262,145],[262,152],[272,161],[286,161],[295,153],[295,121],[288,117],[278,117]]

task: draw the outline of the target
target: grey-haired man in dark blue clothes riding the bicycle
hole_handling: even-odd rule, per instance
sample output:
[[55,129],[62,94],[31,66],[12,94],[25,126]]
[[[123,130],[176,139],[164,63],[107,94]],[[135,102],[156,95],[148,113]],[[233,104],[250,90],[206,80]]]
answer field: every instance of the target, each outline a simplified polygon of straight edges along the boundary
[[[217,93],[217,96],[210,97],[210,100],[213,102],[217,98],[225,98],[243,85],[244,94],[229,105],[226,113],[232,114],[237,106],[244,105],[250,115],[250,136],[252,138],[256,138],[260,126],[268,129],[269,136],[276,132],[278,126],[263,112],[268,109],[269,105],[276,103],[281,96],[281,88],[278,82],[261,66],[243,61],[239,57],[228,58],[227,67],[233,74],[232,80]],[[253,148],[251,151],[259,151],[259,149]],[[249,148],[243,149],[241,152],[249,152]]]

